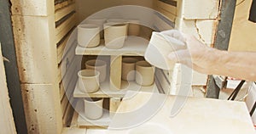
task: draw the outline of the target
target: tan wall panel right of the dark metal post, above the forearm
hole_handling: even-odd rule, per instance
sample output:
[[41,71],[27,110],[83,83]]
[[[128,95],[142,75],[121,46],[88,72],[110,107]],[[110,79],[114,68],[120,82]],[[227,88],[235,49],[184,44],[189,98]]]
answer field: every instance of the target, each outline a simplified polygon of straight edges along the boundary
[[[248,20],[252,0],[237,1],[235,17],[230,36],[229,51],[256,51],[256,23]],[[240,3],[240,4],[238,4]]]

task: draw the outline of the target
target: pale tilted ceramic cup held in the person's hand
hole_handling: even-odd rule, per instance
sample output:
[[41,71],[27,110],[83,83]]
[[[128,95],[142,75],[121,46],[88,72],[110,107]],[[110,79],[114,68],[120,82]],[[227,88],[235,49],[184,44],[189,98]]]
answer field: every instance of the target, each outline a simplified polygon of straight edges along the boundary
[[183,42],[168,39],[168,36],[160,32],[153,32],[145,52],[145,59],[154,66],[163,70],[172,70],[175,62],[168,59],[168,54],[175,49],[183,49],[186,46]]

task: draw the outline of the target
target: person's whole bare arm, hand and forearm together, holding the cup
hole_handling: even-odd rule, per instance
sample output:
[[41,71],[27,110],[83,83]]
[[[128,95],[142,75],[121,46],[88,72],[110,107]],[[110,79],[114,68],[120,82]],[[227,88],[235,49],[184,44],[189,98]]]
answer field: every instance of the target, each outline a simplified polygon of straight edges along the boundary
[[208,75],[225,75],[256,81],[256,52],[220,51],[207,47],[195,36],[179,31],[165,31],[164,34],[172,39],[185,42],[187,47],[187,49],[174,49],[175,51],[168,55],[170,60],[185,64],[193,70]]

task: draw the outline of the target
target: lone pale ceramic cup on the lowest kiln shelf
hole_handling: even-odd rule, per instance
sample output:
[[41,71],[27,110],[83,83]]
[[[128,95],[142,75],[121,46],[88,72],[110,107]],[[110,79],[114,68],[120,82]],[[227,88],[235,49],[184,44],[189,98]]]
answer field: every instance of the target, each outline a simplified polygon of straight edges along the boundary
[[100,119],[103,115],[103,98],[84,98],[84,114],[90,120]]

